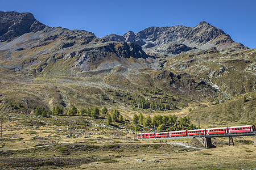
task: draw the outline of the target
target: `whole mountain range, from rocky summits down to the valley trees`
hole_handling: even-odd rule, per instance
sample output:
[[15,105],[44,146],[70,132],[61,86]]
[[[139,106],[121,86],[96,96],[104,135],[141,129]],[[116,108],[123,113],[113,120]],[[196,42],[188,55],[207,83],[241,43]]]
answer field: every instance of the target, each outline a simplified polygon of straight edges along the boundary
[[192,108],[196,117],[247,95],[242,121],[254,112],[255,49],[206,22],[99,38],[48,27],[30,13],[0,16],[1,111],[105,106],[130,117],[136,112],[188,114]]

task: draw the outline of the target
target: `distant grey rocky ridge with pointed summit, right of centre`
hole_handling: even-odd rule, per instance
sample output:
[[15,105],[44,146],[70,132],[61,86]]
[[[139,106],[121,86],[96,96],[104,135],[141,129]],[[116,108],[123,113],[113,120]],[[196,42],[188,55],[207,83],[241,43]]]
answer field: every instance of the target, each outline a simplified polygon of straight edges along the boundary
[[[107,35],[103,37],[109,41],[125,41],[133,42],[141,45],[144,50],[154,52],[155,48],[161,45],[170,43],[179,44],[178,46],[185,46],[184,50],[176,50],[171,52],[177,54],[177,52],[187,51],[189,48],[209,49],[209,48],[236,48],[236,49],[248,49],[241,43],[234,42],[231,37],[219,28],[210,25],[203,21],[196,27],[185,27],[183,25],[177,25],[174,27],[149,27],[134,33],[132,31],[126,32],[123,36],[120,35]],[[160,47],[161,48],[161,47]],[[170,51],[170,50],[168,50]],[[179,53],[180,53],[179,52]],[[152,53],[152,52],[151,52]],[[170,53],[170,52],[165,52]]]

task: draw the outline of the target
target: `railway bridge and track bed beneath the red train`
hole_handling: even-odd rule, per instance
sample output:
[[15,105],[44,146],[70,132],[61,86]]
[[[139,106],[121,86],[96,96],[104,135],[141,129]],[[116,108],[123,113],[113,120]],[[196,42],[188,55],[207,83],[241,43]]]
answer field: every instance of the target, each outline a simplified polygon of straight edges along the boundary
[[205,148],[213,148],[212,145],[212,138],[229,138],[229,146],[230,143],[234,145],[233,137],[244,137],[244,136],[255,136],[254,137],[254,145],[256,145],[256,131],[252,131],[249,133],[229,133],[229,134],[207,134],[207,135],[194,135],[194,136],[187,136],[187,137],[168,137],[168,138],[143,138],[143,140],[166,140],[166,139],[183,139],[183,138],[196,138]]

